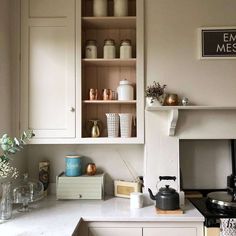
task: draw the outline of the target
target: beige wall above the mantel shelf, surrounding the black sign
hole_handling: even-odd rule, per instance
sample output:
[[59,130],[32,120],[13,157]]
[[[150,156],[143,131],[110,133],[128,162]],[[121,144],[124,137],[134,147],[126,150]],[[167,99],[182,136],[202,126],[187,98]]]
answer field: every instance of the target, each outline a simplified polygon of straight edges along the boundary
[[235,105],[236,60],[198,60],[197,29],[236,26],[234,0],[146,0],[146,78],[196,105]]

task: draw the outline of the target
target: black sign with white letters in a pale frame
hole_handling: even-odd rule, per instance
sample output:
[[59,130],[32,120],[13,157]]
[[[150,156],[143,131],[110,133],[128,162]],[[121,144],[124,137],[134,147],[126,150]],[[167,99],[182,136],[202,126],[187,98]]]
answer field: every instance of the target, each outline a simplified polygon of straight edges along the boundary
[[201,28],[202,59],[236,59],[236,27]]

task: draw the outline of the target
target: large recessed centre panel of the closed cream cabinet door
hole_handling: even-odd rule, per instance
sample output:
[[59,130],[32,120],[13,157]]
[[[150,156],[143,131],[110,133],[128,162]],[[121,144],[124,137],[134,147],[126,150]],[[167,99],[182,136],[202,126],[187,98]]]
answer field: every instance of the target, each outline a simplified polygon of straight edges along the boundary
[[65,28],[32,27],[29,39],[29,126],[36,130],[65,129]]

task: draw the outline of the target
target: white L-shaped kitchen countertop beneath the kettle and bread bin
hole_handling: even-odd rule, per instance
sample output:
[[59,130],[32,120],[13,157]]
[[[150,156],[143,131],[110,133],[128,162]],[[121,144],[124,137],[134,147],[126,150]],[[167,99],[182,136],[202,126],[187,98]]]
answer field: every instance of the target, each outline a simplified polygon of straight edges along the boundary
[[182,215],[157,215],[154,205],[130,209],[129,199],[59,200],[49,196],[31,204],[31,211],[13,211],[8,221],[0,222],[0,235],[72,235],[81,219],[84,221],[131,221],[131,222],[203,222],[204,217],[189,202]]

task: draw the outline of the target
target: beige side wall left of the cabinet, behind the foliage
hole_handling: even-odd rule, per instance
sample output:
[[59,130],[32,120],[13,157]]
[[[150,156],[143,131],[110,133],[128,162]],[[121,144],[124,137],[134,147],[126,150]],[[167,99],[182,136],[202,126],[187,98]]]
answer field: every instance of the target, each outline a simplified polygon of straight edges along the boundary
[[[19,5],[19,0],[0,0],[0,136],[15,134],[19,116]],[[24,151],[13,160],[20,173],[26,171]]]

